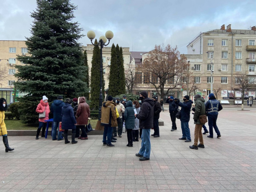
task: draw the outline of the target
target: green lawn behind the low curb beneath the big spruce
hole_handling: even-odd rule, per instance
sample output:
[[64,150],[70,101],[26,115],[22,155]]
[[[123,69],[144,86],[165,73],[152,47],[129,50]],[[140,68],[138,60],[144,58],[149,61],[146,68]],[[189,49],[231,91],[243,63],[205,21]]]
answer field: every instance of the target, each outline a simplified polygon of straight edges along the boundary
[[[91,119],[90,124],[92,125],[93,129],[95,129],[97,124],[97,119]],[[4,120],[6,124],[7,130],[36,130],[38,125],[31,125],[31,124],[23,124],[21,120]],[[51,126],[51,124],[50,124]],[[49,127],[51,129],[51,127]]]

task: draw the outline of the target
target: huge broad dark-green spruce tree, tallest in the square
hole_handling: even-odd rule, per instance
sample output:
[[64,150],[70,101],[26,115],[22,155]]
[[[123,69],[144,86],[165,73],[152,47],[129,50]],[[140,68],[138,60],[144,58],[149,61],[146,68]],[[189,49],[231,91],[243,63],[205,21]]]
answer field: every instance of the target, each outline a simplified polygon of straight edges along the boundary
[[17,59],[25,65],[16,66],[20,79],[15,84],[28,95],[18,98],[22,103],[21,120],[25,123],[38,121],[36,106],[46,95],[49,102],[57,95],[77,97],[88,91],[82,81],[86,68],[83,66],[81,28],[73,22],[76,7],[70,0],[37,0],[37,8],[31,33],[26,38],[29,56]]

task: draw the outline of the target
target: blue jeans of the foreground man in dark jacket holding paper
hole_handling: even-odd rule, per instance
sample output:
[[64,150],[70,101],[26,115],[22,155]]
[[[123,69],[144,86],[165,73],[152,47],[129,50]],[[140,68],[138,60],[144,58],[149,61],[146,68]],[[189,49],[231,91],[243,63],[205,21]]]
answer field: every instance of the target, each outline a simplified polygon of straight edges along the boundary
[[139,154],[143,155],[146,158],[150,157],[150,129],[142,129],[141,135],[141,148]]

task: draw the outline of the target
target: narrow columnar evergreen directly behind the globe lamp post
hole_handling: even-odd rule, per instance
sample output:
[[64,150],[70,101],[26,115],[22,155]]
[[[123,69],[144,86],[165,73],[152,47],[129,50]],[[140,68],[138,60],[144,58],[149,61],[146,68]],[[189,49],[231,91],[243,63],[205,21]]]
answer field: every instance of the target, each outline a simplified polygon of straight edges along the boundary
[[[97,44],[95,40],[94,44]],[[93,59],[91,69],[91,81],[90,81],[90,109],[99,109],[99,92],[100,92],[100,49],[99,46],[93,48]]]

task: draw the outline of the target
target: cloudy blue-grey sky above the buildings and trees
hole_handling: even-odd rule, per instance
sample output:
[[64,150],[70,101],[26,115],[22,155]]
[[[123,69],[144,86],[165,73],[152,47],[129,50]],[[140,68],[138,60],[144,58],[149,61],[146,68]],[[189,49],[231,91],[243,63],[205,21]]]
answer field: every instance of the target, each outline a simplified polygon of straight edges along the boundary
[[[220,29],[250,29],[256,25],[256,0],[71,0],[74,21],[83,34],[89,30],[96,38],[107,30],[114,33],[110,43],[130,47],[130,51],[150,51],[155,44],[186,45],[200,32]],[[1,0],[0,40],[25,40],[31,36],[30,12],[36,0]],[[80,42],[89,44],[87,36]]]

